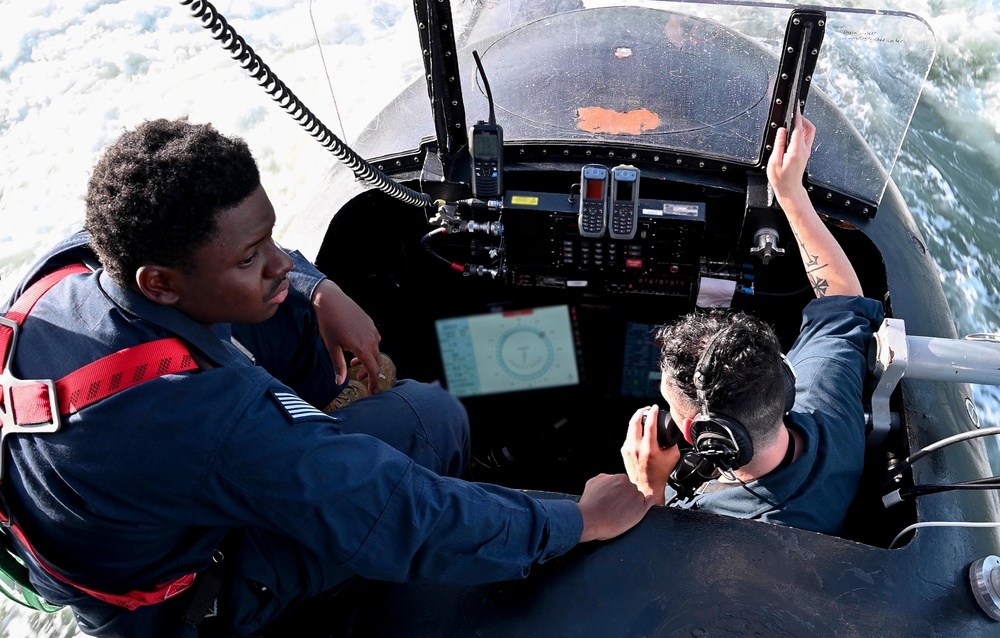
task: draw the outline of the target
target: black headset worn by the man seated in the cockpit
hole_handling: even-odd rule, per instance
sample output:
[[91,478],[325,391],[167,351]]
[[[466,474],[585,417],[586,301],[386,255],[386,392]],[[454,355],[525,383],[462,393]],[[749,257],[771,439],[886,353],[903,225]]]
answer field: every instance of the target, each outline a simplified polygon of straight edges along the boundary
[[[715,477],[716,470],[735,470],[753,459],[753,440],[746,427],[728,414],[713,412],[708,404],[711,384],[706,377],[719,337],[728,330],[723,328],[712,337],[695,366],[692,382],[698,393],[701,413],[691,423],[691,447],[681,455],[668,479],[680,498],[694,496],[702,484]],[[795,371],[784,355],[781,362],[785,373],[784,413],[787,414],[795,404]],[[676,430],[676,426],[674,428]]]

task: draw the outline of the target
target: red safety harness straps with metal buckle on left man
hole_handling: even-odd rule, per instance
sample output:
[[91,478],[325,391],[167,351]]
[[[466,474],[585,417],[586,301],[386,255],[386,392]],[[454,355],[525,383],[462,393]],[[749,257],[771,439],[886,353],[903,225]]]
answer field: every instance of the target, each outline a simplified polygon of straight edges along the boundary
[[[66,266],[35,282],[21,295],[6,317],[0,317],[0,463],[3,441],[17,432],[32,434],[55,432],[61,418],[78,412],[88,405],[127,390],[132,386],[161,377],[198,369],[187,346],[179,339],[160,339],[134,348],[125,348],[98,359],[58,381],[51,379],[24,380],[10,370],[17,335],[28,313],[53,286],[66,277],[90,272],[83,265]],[[3,467],[0,465],[0,478]],[[188,574],[156,586],[152,591],[132,591],[127,594],[107,594],[69,580],[49,565],[28,541],[3,503],[0,525],[10,530],[28,548],[46,572],[80,591],[112,605],[136,609],[155,605],[185,591],[194,583],[195,574]]]

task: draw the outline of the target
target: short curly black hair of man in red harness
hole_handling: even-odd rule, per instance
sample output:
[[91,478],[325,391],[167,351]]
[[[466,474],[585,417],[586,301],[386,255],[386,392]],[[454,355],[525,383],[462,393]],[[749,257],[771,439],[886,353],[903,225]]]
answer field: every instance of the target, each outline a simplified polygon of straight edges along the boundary
[[144,264],[190,272],[216,216],[249,197],[260,172],[246,142],[187,118],[150,120],[118,138],[87,187],[86,229],[101,265],[133,286]]

